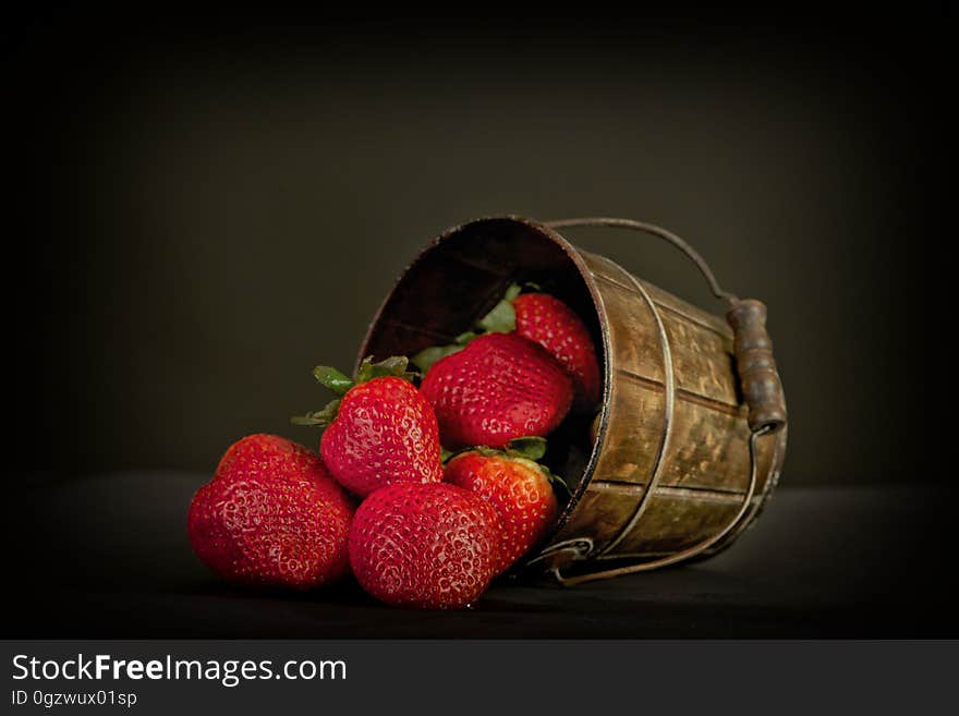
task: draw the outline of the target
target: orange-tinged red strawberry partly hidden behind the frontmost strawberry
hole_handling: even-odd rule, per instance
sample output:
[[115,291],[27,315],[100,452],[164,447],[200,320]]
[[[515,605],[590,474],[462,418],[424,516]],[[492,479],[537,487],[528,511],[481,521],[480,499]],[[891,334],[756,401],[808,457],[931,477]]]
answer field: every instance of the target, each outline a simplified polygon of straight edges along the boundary
[[478,448],[453,457],[445,478],[489,501],[499,513],[497,573],[508,570],[553,526],[559,503],[543,465],[511,451]]

